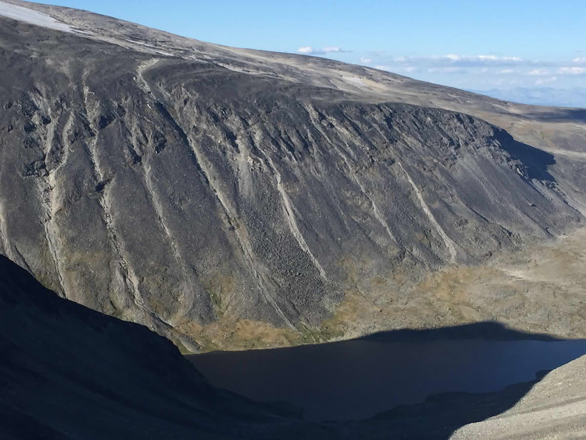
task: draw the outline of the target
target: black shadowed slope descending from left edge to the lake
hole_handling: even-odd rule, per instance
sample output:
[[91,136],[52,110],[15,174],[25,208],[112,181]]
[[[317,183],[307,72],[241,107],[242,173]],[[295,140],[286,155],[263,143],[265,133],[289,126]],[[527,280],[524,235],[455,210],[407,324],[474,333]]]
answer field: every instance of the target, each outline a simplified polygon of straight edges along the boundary
[[4,256],[0,353],[3,440],[256,438],[279,420],[210,386],[165,338],[57,297]]

